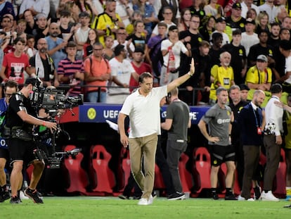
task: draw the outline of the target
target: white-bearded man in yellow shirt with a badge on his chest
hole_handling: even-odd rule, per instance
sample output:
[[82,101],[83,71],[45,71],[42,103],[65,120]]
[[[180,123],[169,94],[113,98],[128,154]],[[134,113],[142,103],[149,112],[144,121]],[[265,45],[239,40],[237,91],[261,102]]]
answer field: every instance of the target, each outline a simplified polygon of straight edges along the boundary
[[209,104],[214,105],[216,102],[216,89],[224,87],[229,89],[231,85],[234,85],[233,80],[233,68],[231,64],[231,54],[228,51],[224,51],[220,54],[220,65],[214,65],[211,69],[211,90],[209,94]]

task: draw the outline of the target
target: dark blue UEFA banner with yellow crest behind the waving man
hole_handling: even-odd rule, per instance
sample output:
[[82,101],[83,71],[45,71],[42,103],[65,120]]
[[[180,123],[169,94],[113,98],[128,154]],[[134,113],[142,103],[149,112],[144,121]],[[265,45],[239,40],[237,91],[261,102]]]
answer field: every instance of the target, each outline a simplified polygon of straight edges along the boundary
[[[122,105],[117,104],[84,104],[79,106],[79,123],[117,123]],[[209,106],[190,106],[192,124],[197,125]],[[162,107],[162,117],[167,116],[167,106]],[[106,121],[107,120],[107,121]]]

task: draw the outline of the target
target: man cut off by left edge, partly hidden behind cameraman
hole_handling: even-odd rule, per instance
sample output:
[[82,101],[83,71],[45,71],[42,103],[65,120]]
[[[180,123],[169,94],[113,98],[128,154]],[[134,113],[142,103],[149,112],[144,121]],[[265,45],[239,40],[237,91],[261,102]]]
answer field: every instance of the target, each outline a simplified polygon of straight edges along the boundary
[[[9,99],[12,94],[18,91],[18,84],[14,80],[8,80],[4,85],[5,97],[0,99],[0,127],[3,127],[5,123],[6,111],[9,104]],[[10,198],[10,195],[6,187],[6,173],[5,165],[9,159],[8,147],[5,144],[0,144],[0,202],[3,202]]]

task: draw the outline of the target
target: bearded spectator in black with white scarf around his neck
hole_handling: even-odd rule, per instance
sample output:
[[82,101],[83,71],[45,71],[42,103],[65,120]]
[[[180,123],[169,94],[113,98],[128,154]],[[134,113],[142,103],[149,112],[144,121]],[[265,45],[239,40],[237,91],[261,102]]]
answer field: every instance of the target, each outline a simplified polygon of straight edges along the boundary
[[37,49],[37,54],[30,58],[31,73],[37,75],[45,86],[51,86],[52,84],[58,86],[58,77],[56,77],[53,58],[47,54],[48,44],[46,39],[39,39]]

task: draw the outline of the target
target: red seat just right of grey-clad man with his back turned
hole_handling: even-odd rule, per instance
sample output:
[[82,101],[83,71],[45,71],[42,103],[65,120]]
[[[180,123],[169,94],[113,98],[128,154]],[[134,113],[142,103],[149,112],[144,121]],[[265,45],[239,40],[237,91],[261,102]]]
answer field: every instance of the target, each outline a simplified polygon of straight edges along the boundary
[[191,173],[186,169],[186,163],[188,160],[189,157],[185,153],[181,154],[179,161],[179,173],[183,192],[190,193],[191,188],[193,187],[193,179]]

